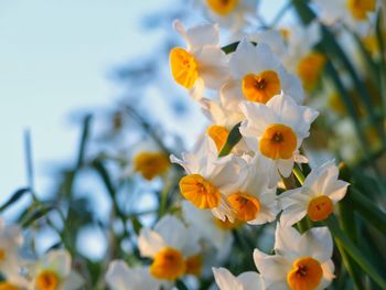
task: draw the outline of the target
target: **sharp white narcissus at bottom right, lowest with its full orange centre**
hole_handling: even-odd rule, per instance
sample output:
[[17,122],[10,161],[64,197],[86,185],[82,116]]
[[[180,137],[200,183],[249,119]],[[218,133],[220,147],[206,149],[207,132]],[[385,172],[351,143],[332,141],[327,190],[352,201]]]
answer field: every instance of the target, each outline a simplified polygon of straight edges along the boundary
[[278,224],[275,255],[254,251],[257,269],[267,289],[321,290],[334,278],[332,237],[326,227],[311,228],[300,235]]

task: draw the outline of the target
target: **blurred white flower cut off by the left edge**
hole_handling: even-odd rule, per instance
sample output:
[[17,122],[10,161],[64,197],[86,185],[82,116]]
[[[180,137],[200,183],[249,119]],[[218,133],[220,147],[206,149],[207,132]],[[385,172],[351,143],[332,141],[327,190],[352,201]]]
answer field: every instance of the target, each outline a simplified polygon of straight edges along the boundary
[[0,218],[0,272],[8,276],[17,273],[20,266],[19,247],[23,244],[21,228],[6,225]]

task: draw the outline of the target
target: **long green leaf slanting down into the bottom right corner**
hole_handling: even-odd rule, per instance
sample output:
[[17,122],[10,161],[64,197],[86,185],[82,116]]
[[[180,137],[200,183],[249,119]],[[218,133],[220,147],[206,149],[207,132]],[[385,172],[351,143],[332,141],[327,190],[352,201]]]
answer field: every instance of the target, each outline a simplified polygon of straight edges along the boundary
[[[354,243],[346,236],[346,234],[340,228],[334,215],[331,215],[324,224],[331,230],[334,239],[337,240],[357,265],[365,271],[382,289],[386,289],[386,280],[379,275],[377,269],[372,262],[362,254],[362,251],[354,245]],[[344,254],[343,254],[344,255]]]

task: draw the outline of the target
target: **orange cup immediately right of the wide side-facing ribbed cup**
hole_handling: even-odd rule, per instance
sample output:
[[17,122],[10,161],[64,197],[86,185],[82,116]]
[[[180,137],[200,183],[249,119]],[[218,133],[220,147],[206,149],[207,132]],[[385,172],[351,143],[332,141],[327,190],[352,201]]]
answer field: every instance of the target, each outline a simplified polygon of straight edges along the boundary
[[243,222],[255,219],[260,212],[259,200],[247,193],[234,193],[228,196],[228,202],[235,211],[237,219]]

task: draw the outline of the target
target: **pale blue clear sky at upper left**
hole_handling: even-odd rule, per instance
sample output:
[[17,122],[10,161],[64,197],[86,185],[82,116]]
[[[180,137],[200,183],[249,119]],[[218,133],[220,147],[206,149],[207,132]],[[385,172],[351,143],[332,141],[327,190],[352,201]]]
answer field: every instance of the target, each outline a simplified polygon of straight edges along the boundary
[[0,1],[0,201],[25,184],[25,128],[37,190],[49,161],[73,157],[78,127],[67,115],[114,101],[118,89],[106,75],[157,40],[139,28],[157,2]]

